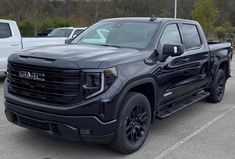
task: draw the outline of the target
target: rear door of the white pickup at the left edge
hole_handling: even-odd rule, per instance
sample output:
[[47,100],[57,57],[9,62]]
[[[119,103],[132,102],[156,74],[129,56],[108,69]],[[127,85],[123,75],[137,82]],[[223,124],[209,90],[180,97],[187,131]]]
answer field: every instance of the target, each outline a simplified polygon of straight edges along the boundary
[[7,58],[21,49],[21,42],[14,38],[10,24],[0,22],[0,71],[6,70]]

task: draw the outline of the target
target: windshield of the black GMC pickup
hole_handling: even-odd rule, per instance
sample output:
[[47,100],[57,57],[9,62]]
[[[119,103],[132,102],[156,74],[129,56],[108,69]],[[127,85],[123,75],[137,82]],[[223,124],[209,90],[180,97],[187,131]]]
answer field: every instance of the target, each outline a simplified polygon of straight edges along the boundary
[[149,45],[157,26],[150,22],[99,22],[72,43],[143,49]]

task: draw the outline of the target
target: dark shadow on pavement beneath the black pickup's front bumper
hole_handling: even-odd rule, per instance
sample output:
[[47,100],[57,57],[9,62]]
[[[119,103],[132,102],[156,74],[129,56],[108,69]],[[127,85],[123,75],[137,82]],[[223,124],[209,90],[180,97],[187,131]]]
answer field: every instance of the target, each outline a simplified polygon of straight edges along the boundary
[[[37,151],[44,158],[120,158],[122,155],[112,151],[105,145],[71,142],[56,137],[50,137],[35,131],[23,129],[18,132],[21,146],[31,151]],[[21,139],[20,139],[21,138]],[[79,157],[78,157],[79,156]]]

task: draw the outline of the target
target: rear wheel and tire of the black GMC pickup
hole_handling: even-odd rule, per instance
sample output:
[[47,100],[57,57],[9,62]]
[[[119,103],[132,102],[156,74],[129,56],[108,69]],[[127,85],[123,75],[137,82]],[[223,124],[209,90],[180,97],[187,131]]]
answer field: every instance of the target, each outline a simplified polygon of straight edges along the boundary
[[219,69],[213,81],[208,101],[219,103],[223,99],[226,81],[227,79],[224,70]]

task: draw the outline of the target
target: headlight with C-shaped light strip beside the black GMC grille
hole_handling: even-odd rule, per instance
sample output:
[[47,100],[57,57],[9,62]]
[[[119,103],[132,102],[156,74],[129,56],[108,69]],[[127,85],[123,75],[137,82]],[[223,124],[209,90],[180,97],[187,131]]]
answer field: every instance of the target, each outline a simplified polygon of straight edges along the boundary
[[86,99],[92,98],[107,90],[117,77],[116,68],[84,70],[83,93]]

